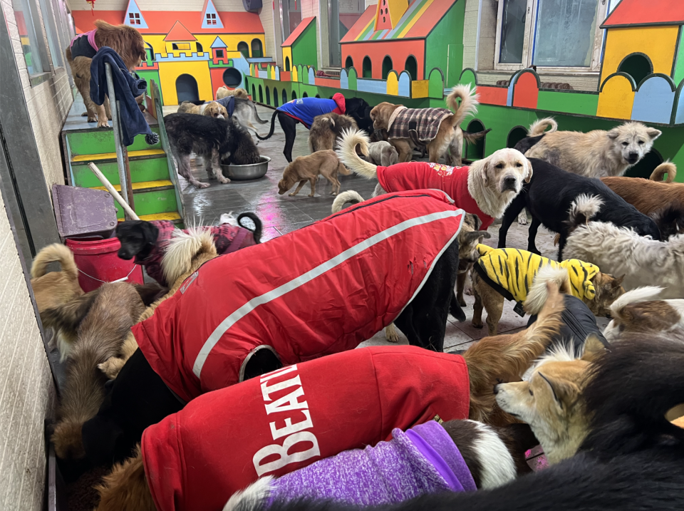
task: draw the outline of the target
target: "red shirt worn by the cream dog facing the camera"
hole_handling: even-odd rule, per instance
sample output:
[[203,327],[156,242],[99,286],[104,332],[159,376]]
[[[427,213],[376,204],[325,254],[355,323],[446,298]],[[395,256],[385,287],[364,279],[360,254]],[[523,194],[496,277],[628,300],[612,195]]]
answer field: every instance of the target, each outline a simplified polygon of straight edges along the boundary
[[494,218],[480,210],[468,191],[470,167],[449,167],[441,163],[405,162],[378,167],[378,181],[385,192],[404,190],[436,189],[446,192],[457,207],[466,213],[477,215],[482,222],[480,229],[486,230]]

